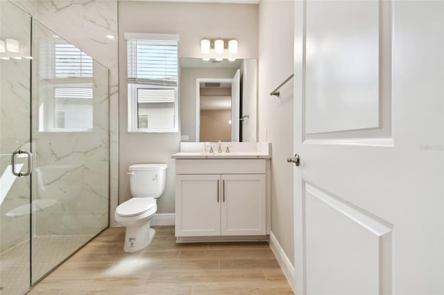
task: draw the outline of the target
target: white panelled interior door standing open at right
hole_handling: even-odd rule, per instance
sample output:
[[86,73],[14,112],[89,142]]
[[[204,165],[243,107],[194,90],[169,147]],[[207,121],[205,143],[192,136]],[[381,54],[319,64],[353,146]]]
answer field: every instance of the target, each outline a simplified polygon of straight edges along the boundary
[[296,1],[296,294],[443,294],[443,1]]

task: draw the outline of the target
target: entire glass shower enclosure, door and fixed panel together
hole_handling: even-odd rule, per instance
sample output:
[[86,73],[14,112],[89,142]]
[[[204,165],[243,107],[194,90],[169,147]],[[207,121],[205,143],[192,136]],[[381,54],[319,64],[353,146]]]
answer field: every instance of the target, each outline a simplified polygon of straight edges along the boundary
[[0,1],[0,294],[108,226],[108,69]]

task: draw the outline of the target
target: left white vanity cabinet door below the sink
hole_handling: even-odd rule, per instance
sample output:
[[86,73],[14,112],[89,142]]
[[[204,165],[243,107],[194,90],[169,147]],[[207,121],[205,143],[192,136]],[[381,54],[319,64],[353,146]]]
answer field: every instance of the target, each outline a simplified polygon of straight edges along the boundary
[[176,237],[221,235],[221,175],[176,175]]

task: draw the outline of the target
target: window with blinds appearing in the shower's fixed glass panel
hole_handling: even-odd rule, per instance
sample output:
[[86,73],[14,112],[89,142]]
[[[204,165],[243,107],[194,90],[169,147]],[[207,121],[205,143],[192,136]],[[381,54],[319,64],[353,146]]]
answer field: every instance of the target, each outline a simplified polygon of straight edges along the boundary
[[39,131],[92,130],[92,57],[60,38],[41,39],[39,57]]

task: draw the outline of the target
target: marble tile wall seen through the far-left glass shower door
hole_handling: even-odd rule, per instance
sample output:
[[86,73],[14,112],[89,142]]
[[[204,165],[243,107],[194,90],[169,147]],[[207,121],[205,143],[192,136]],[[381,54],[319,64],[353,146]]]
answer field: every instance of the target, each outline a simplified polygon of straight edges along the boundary
[[[22,50],[30,51],[31,19],[26,13],[1,3],[0,37],[14,36],[22,42]],[[29,125],[31,118],[31,73],[30,60],[0,60],[0,172],[11,168],[10,151],[30,150]],[[29,215],[11,217],[13,209],[29,204],[30,178],[18,178],[6,196],[2,195],[0,206],[0,252],[29,238]],[[3,185],[5,183],[3,182]],[[2,188],[5,193],[8,188]]]

